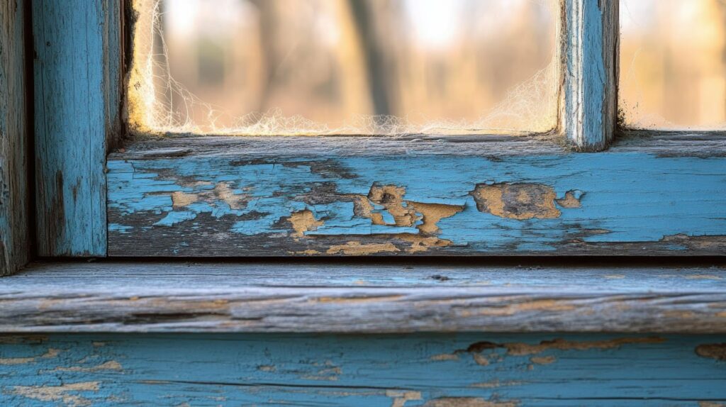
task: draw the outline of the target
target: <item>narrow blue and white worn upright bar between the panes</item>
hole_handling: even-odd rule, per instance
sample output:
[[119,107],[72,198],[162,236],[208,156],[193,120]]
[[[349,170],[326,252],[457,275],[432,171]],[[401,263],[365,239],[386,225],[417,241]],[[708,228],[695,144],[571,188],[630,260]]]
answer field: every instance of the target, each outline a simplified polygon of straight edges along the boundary
[[578,151],[608,147],[617,128],[619,0],[564,0],[560,126]]

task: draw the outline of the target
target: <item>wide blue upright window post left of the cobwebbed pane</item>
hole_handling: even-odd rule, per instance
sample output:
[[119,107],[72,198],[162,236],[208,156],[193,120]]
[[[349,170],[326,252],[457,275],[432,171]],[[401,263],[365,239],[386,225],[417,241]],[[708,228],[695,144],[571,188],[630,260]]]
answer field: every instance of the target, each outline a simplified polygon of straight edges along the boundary
[[120,0],[33,0],[38,254],[106,254],[108,146],[121,130]]

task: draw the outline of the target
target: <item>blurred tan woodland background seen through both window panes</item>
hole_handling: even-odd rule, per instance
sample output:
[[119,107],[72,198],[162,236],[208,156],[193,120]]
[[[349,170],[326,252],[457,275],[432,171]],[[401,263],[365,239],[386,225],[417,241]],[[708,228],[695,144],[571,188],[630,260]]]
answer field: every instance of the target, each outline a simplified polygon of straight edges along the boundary
[[[726,128],[726,0],[620,0],[629,128]],[[545,133],[557,0],[159,0],[159,122],[216,133]]]

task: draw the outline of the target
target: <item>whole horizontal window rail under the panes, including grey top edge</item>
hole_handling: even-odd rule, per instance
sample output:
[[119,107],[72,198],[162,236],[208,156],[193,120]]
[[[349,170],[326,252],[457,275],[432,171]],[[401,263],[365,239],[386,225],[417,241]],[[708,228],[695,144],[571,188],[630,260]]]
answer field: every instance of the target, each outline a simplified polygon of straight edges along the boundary
[[725,140],[139,141],[107,163],[109,255],[723,255]]

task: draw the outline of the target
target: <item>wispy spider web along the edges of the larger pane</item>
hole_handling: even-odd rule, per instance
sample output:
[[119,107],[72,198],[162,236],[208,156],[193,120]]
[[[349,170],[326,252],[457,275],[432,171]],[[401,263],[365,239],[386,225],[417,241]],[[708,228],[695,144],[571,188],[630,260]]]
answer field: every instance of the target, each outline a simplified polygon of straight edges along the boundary
[[[530,0],[560,15],[557,0]],[[410,120],[389,115],[356,115],[342,126],[330,126],[280,109],[231,117],[228,112],[192,94],[171,75],[162,32],[160,0],[133,0],[133,60],[129,73],[128,113],[132,133],[190,133],[234,136],[381,135],[404,134],[531,134],[557,126],[560,46],[552,59],[527,81],[507,91],[505,99],[477,120]],[[559,18],[555,20],[559,21]],[[557,27],[560,38],[560,27]],[[203,112],[200,115],[199,112]],[[221,118],[231,126],[222,126]]]

